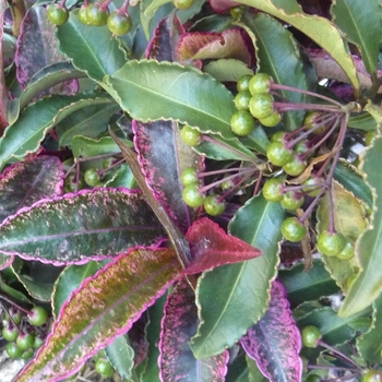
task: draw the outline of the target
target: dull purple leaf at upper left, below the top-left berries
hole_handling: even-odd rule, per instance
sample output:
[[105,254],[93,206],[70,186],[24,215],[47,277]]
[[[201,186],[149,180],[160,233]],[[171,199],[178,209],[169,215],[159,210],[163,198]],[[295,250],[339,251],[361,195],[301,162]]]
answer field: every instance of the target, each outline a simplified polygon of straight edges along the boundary
[[[45,7],[32,7],[21,25],[16,49],[16,74],[22,87],[40,69],[67,61],[59,52],[55,38],[56,26],[48,20]],[[71,95],[77,92],[76,80],[67,81],[51,88],[50,93]]]

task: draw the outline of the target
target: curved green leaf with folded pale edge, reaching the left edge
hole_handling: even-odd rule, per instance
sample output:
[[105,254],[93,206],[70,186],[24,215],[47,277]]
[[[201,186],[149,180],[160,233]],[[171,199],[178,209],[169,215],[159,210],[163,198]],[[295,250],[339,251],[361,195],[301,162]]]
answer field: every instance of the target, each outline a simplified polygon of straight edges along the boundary
[[0,168],[9,160],[22,160],[27,154],[35,153],[47,132],[70,114],[89,105],[112,104],[111,99],[98,95],[99,92],[52,95],[29,105],[0,139]]

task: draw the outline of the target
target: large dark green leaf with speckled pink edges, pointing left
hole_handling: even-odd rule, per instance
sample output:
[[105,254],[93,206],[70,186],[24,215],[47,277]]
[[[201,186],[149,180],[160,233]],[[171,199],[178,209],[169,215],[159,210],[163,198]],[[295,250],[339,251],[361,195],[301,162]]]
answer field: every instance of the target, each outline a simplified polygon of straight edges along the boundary
[[140,192],[83,190],[22,208],[0,226],[0,253],[43,263],[82,264],[153,246],[163,229]]

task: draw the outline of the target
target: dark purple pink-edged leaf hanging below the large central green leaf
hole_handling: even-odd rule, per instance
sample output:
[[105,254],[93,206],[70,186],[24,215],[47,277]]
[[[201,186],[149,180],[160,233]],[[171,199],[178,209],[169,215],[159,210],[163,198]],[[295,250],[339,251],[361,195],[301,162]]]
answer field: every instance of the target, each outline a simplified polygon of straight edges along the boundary
[[167,214],[186,232],[200,210],[190,208],[184,203],[180,174],[187,167],[202,170],[203,157],[181,140],[176,122],[133,121],[133,131],[138,159],[146,183]]

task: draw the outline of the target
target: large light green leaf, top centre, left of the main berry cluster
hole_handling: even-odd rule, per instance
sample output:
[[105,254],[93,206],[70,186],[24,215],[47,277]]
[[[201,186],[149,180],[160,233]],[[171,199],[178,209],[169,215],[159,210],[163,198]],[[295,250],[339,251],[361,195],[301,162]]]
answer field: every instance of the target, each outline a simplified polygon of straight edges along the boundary
[[104,87],[139,121],[171,119],[203,133],[236,139],[229,128],[236,111],[232,94],[195,68],[153,60],[129,61],[105,77]]

